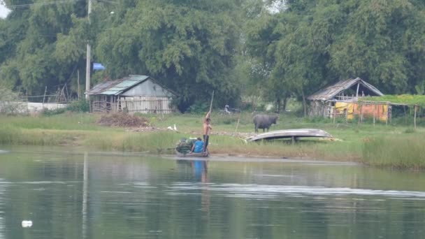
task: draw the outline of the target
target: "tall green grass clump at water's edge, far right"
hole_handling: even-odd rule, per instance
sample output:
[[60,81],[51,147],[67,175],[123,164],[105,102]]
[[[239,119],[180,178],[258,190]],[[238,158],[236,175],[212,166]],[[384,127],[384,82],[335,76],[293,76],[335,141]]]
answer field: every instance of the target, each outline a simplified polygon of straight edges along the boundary
[[424,135],[412,133],[367,139],[363,143],[363,162],[373,166],[423,169],[424,140]]

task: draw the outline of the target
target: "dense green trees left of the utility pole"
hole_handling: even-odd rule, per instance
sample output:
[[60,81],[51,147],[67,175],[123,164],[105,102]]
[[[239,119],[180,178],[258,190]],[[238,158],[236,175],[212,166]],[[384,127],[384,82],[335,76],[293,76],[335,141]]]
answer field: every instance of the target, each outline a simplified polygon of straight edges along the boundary
[[[83,58],[81,54],[75,57],[73,45],[64,36],[77,17],[86,14],[85,3],[5,2],[13,10],[0,26],[5,29],[0,38],[6,39],[4,45],[0,41],[0,52],[5,53],[0,58],[1,80],[30,96],[43,94],[45,87],[53,91],[59,85],[70,84]],[[57,46],[66,51],[57,50]]]

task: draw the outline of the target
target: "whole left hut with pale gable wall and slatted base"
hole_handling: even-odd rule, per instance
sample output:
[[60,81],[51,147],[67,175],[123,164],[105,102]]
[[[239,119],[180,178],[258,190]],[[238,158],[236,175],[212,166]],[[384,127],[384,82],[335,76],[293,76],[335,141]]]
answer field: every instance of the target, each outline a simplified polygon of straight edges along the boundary
[[92,112],[172,113],[176,94],[147,75],[101,82],[89,92]]

